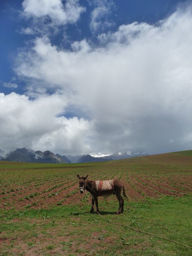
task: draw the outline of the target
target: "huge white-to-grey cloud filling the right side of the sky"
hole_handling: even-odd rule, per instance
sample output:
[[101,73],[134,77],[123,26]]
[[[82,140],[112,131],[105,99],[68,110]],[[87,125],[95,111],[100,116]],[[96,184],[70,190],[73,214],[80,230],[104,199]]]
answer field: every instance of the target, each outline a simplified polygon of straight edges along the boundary
[[[47,37],[36,38],[33,48],[18,56],[16,72],[44,81],[45,90],[52,87],[67,93],[69,105],[89,111],[91,121],[84,121],[90,134],[86,137],[88,130],[83,129],[81,142],[90,152],[135,147],[152,153],[189,149],[191,10],[191,6],[178,9],[156,25],[122,25],[113,33],[99,35],[99,47],[83,40],[73,43],[72,51],[65,51]],[[46,133],[44,141],[55,137],[54,131]]]

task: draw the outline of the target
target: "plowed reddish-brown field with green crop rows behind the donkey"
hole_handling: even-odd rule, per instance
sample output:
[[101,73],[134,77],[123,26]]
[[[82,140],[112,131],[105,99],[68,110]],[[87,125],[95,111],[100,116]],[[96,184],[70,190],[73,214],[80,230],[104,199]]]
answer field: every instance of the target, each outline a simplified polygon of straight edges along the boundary
[[0,207],[4,209],[77,204],[82,199],[77,174],[89,174],[91,180],[117,178],[123,182],[132,200],[146,196],[183,196],[192,192],[192,157],[182,154],[53,167],[0,162],[0,168]]

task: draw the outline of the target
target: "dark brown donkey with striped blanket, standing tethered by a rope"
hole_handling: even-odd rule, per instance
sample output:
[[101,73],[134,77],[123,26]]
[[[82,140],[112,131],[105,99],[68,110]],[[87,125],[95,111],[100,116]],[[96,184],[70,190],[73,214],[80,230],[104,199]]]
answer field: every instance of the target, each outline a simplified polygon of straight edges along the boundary
[[[121,181],[114,179],[114,180],[110,180],[113,183],[113,186],[111,187],[111,189],[107,189],[107,190],[102,190],[101,191],[101,185],[100,185],[100,189],[97,189],[96,183],[99,181],[93,181],[93,180],[87,180],[89,175],[87,175],[86,177],[80,177],[79,174],[77,175],[78,179],[79,179],[79,189],[81,194],[83,194],[83,192],[85,191],[85,189],[87,191],[89,191],[92,195],[92,207],[90,212],[93,213],[94,212],[94,203],[96,204],[96,211],[99,212],[99,208],[98,208],[98,196],[109,196],[109,195],[116,195],[118,201],[119,201],[119,209],[116,212],[116,214],[120,214],[121,212],[123,212],[124,208],[124,199],[121,196],[121,191],[123,189],[123,195],[127,197],[127,195],[125,194],[125,188],[124,185],[122,184]],[[103,181],[101,181],[103,182]],[[98,183],[97,183],[98,184]],[[102,183],[101,183],[102,184]],[[129,198],[128,198],[129,199]]]

